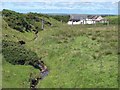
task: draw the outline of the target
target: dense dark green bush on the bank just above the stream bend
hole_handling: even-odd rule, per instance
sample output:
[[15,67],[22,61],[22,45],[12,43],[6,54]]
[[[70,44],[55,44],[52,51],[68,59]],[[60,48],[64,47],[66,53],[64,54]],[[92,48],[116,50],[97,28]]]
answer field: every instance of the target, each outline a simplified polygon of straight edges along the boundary
[[34,64],[38,60],[36,53],[27,50],[17,42],[3,40],[2,54],[6,61],[12,64]]

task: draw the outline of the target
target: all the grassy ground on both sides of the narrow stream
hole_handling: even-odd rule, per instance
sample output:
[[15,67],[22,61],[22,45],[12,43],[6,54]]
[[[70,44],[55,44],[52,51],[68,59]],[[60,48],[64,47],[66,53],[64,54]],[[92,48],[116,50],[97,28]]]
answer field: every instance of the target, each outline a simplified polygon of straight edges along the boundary
[[[37,58],[42,57],[47,65],[49,75],[39,82],[39,88],[118,87],[117,37],[117,25],[59,24],[40,31],[37,39],[32,40],[34,33],[11,29],[3,20],[3,40],[16,43],[24,40],[26,44],[22,47],[35,53]],[[4,56],[3,87],[28,88],[30,73],[36,76],[39,70],[30,65],[8,63],[13,58],[7,60]]]

